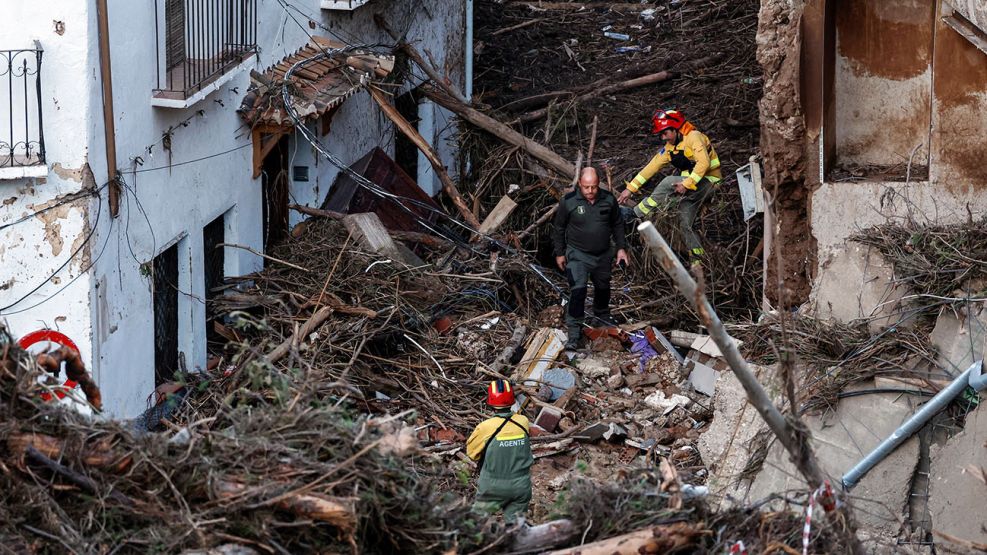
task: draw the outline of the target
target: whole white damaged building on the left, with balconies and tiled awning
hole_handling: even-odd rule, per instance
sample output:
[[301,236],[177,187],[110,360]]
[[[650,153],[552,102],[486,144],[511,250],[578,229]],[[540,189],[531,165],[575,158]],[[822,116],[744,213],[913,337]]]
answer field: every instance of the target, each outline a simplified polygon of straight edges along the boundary
[[[29,348],[77,347],[108,414],[143,411],[156,385],[206,366],[206,303],[224,277],[261,269],[303,218],[288,205],[323,206],[340,174],[290,123],[257,129],[245,98],[306,47],[393,44],[390,33],[469,94],[471,2],[455,4],[10,6],[0,20],[0,319]],[[388,93],[453,170],[455,128],[415,94],[420,81],[409,74]],[[343,164],[377,152],[434,194],[431,166],[361,90],[366,80],[347,84],[327,104],[311,91],[317,117],[304,124]]]

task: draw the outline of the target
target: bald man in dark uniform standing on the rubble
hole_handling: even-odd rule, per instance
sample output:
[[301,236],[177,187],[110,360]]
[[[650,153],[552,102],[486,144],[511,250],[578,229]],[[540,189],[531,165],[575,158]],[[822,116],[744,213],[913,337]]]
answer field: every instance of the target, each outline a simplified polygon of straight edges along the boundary
[[596,169],[583,168],[579,186],[562,197],[555,212],[555,263],[569,282],[566,349],[578,349],[586,314],[586,284],[593,281],[593,316],[603,325],[610,317],[610,271],[614,249],[617,263],[627,264],[624,219],[617,197],[600,189]]

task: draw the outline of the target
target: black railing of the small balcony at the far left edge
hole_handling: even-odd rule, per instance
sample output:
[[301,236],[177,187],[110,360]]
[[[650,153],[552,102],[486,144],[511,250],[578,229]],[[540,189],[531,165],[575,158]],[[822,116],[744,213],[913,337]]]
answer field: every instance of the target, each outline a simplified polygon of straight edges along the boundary
[[[41,55],[29,50],[0,50],[0,168],[45,163],[41,117]],[[6,98],[5,98],[6,97]]]

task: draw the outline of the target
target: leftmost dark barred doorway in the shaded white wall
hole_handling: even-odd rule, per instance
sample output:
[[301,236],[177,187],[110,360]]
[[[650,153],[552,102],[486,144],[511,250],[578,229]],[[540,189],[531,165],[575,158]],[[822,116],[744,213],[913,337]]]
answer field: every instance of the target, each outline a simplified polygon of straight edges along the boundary
[[154,385],[178,371],[178,244],[151,262],[154,300]]

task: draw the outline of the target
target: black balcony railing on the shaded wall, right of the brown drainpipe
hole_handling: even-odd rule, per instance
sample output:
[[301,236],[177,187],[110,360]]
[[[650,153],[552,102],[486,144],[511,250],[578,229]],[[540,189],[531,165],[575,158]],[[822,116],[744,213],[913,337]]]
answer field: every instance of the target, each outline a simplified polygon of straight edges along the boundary
[[187,98],[257,52],[257,0],[158,2],[159,96]]

